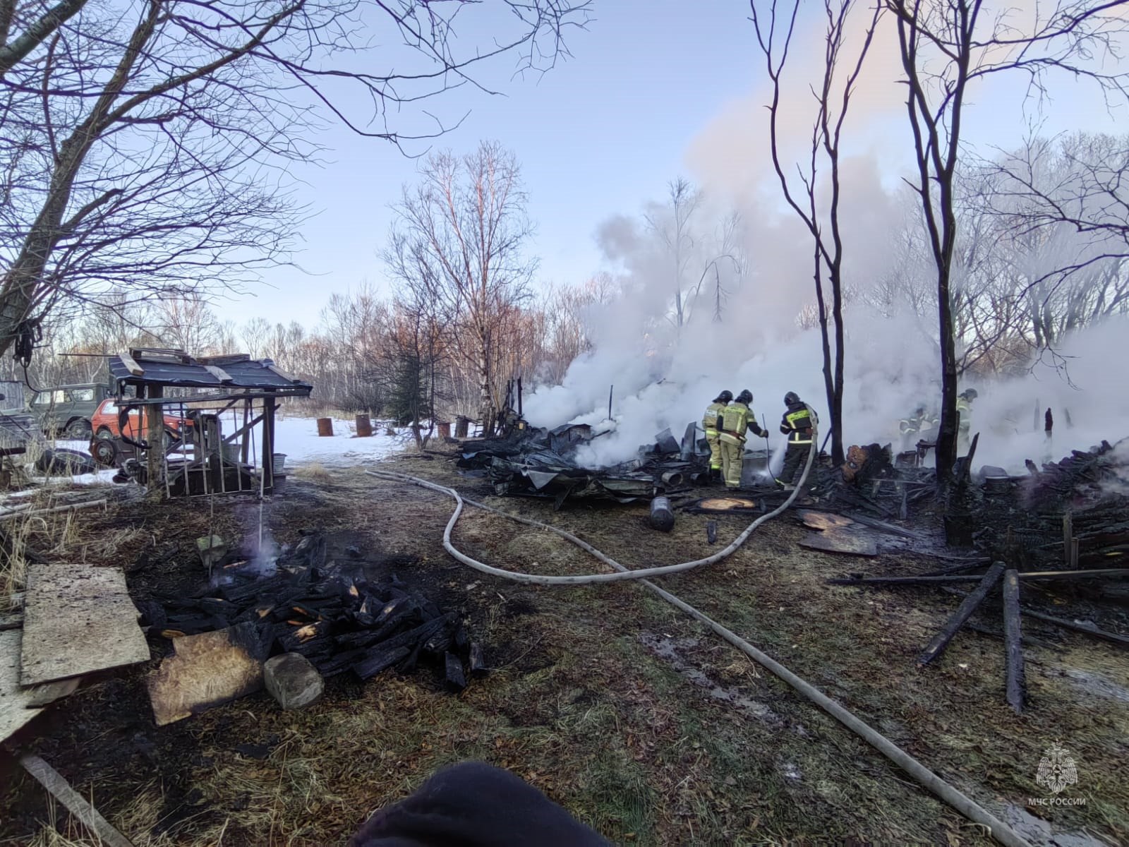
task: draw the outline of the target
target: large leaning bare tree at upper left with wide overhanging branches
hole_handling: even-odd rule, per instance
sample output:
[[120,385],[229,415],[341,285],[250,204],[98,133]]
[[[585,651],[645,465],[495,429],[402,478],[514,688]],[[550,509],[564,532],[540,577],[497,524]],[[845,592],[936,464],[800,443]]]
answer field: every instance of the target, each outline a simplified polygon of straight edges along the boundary
[[[286,168],[316,158],[318,115],[394,143],[434,137],[441,123],[401,133],[388,114],[475,85],[474,68],[507,52],[545,70],[587,14],[584,0],[496,7],[505,20],[487,21],[496,37],[479,50],[454,28],[478,3],[361,16],[353,0],[0,2],[0,352],[45,314],[114,291],[238,287],[287,262],[304,210]],[[341,56],[388,36],[406,64],[401,52],[395,70],[345,69]]]

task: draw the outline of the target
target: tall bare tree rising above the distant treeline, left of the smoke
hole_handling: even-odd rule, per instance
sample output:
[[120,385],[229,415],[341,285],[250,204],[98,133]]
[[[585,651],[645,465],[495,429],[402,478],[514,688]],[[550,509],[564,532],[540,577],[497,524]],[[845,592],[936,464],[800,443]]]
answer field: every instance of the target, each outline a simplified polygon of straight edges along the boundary
[[495,369],[501,320],[530,297],[536,261],[520,168],[496,142],[455,157],[435,154],[395,207],[385,260],[393,277],[425,285],[460,356],[473,363],[484,433],[493,431],[500,386]]

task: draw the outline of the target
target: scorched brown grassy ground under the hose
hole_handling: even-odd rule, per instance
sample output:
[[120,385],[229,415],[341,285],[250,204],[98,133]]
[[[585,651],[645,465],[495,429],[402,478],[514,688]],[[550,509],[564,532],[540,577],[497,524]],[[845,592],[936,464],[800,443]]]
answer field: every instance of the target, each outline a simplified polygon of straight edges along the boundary
[[[629,567],[708,549],[704,515],[680,515],[667,535],[647,529],[642,505],[553,513],[544,501],[491,497],[441,456],[385,466],[570,530]],[[452,507],[431,491],[335,471],[292,477],[266,519],[280,543],[303,529],[348,532],[336,543],[461,609],[493,669],[461,695],[444,692],[427,671],[366,683],[341,674],[304,711],[282,713],[260,693],[157,728],[143,686],[149,669],[139,667],[53,706],[14,746],[43,756],[138,847],[342,844],[373,809],[469,758],[513,769],[616,844],[988,842],[865,742],[641,586],[526,587],[458,565],[440,544]],[[718,548],[747,521],[716,519]],[[209,526],[226,538],[254,534],[257,506],[217,501],[211,517],[203,501],[134,504],[89,521],[87,538],[129,533],[115,564],[131,568],[145,549],[180,543],[166,562],[128,574],[143,601],[154,588],[199,584],[193,540]],[[1030,705],[1018,717],[1004,701],[1001,643],[992,635],[962,631],[936,666],[916,667],[956,599],[824,582],[946,562],[896,549],[876,559],[804,550],[796,542],[806,532],[786,514],[729,559],[662,585],[1033,840],[1053,827],[1064,845],[1129,841],[1122,649],[1025,621],[1035,643],[1025,648]],[[454,539],[508,569],[598,569],[555,535],[473,509]],[[98,560],[95,547],[88,560]],[[1073,601],[1044,602],[1069,610]],[[973,620],[999,630],[994,611]],[[155,655],[167,649],[152,643]],[[1077,762],[1078,784],[1065,794],[1086,804],[1025,810],[1029,797],[1047,795],[1035,775],[1054,741]],[[80,835],[2,754],[0,810],[0,844],[71,844],[43,826],[49,820]]]

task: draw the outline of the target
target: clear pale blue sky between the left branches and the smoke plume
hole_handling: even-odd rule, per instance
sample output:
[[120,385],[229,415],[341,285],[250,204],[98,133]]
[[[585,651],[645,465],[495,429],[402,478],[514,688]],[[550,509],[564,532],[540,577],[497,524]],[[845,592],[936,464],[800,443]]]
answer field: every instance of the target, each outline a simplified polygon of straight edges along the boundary
[[[517,155],[544,281],[578,282],[598,270],[596,226],[610,215],[637,212],[672,177],[693,175],[691,142],[724,111],[750,108],[760,81],[763,59],[742,0],[595,0],[593,15],[587,32],[569,35],[572,58],[540,79],[510,80],[507,60],[480,73],[506,96],[463,88],[422,104],[448,121],[471,111],[437,146],[463,152],[489,138]],[[483,44],[489,38],[471,27],[461,36]],[[1048,129],[1113,126],[1093,98],[1062,94]],[[1000,87],[980,96],[974,117],[982,138],[1004,145],[1019,139],[1017,95]],[[296,260],[317,276],[271,271],[265,281],[273,288],[221,304],[224,317],[312,326],[333,291],[366,279],[384,285],[379,251],[388,206],[417,165],[385,141],[340,128],[321,141],[330,148],[327,164],[294,169],[304,183],[300,199],[318,211],[303,228]]]

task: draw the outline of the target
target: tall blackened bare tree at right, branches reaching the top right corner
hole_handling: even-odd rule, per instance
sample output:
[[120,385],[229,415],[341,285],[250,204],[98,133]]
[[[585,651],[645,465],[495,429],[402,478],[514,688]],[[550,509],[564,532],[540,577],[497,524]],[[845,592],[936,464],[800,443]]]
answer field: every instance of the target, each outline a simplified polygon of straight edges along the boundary
[[[982,0],[886,0],[898,24],[907,110],[913,132],[918,180],[930,251],[936,265],[942,411],[937,482],[947,487],[956,461],[959,376],[954,286],[957,243],[956,173],[969,86],[1008,72],[1027,75],[1043,93],[1047,75],[1061,70],[1122,94],[1124,72],[1108,72],[1095,56],[1117,60],[1126,32],[1120,2],[1057,0],[1024,10],[986,9]],[[1030,14],[1031,20],[1023,16]]]

